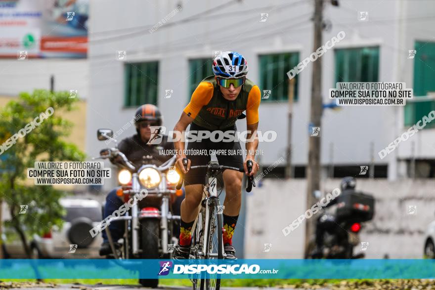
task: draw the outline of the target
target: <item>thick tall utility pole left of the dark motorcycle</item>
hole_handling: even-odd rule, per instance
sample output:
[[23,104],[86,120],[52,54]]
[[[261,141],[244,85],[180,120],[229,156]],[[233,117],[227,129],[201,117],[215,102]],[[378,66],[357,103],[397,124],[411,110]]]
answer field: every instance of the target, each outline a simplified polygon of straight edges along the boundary
[[[322,45],[322,24],[323,24],[323,0],[314,0],[314,43],[313,50],[316,51]],[[313,192],[320,189],[320,136],[322,133],[322,58],[317,58],[311,63],[313,66],[311,80],[311,113],[310,124],[314,127],[320,127],[318,136],[309,136],[308,165],[307,165],[307,192],[306,208],[310,208],[315,202]],[[305,256],[308,255],[308,243],[310,237],[314,234],[314,218],[306,220],[305,227]]]

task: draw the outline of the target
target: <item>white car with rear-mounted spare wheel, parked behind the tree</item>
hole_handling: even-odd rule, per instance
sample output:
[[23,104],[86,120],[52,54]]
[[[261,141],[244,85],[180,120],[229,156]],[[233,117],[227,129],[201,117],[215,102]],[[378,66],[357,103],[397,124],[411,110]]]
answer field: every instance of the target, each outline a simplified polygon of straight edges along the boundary
[[[101,258],[98,254],[102,243],[101,234],[91,237],[89,230],[102,219],[101,205],[95,200],[61,199],[66,209],[62,229],[53,227],[40,237],[35,235],[31,242],[33,258]],[[25,258],[26,254],[17,235],[4,228],[2,235],[6,258]]]

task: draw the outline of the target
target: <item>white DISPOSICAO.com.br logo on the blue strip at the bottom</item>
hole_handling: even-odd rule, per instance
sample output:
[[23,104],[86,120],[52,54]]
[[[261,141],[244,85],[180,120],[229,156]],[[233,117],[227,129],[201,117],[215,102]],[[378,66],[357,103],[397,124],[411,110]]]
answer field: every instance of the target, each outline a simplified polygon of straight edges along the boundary
[[[168,275],[169,268],[172,264],[166,262],[161,263],[159,275]],[[163,270],[165,274],[161,274]],[[174,274],[276,274],[279,270],[269,269],[261,270],[260,265],[257,264],[174,264]]]

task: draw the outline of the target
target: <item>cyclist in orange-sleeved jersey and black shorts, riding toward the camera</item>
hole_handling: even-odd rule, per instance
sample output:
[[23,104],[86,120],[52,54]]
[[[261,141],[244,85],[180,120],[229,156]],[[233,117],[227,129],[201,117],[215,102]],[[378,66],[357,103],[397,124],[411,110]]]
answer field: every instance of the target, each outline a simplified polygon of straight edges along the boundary
[[[254,175],[259,168],[254,159],[255,151],[258,148],[258,139],[255,136],[259,123],[260,88],[246,78],[248,73],[247,61],[241,54],[234,51],[225,51],[215,57],[213,73],[214,76],[207,77],[199,83],[189,104],[181,113],[174,131],[185,131],[189,124],[191,131],[209,131],[211,133],[216,130],[236,131],[235,122],[237,119],[245,117],[243,112],[246,110],[246,124],[250,133],[247,134],[246,150],[248,150],[248,154],[245,161],[243,161],[241,154],[220,154],[216,157],[220,165],[238,167],[244,169],[247,175]],[[210,155],[185,156],[183,141],[175,142],[174,147],[177,152],[176,166],[185,174],[186,196],[181,203],[180,237],[174,250],[174,258],[181,259],[189,257],[191,230],[198,215],[198,206],[202,200],[206,175],[205,170],[189,170],[189,168],[190,166],[206,165],[211,157]],[[241,150],[241,146],[238,141],[212,142],[210,138],[202,139],[202,142],[188,142],[187,152],[197,149],[202,151],[205,149],[209,153],[209,150],[219,149]],[[187,170],[182,164],[184,158],[188,158]],[[249,174],[246,166],[248,160],[253,162],[253,169]],[[223,203],[223,244],[226,258],[235,259],[232,236],[241,207],[243,173],[227,169],[223,171],[222,176],[226,194]]]

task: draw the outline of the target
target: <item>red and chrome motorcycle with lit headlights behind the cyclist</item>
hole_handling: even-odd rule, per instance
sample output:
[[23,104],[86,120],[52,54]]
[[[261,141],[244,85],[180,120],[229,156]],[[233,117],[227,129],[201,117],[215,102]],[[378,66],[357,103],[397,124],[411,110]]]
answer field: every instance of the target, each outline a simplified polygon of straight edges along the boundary
[[[176,196],[182,195],[181,190],[175,189],[180,179],[174,168],[175,156],[161,166],[153,165],[152,157],[146,156],[143,165],[137,169],[118,150],[117,140],[111,136],[112,130],[98,129],[98,140],[112,140],[115,148],[101,150],[100,157],[96,159],[109,159],[121,169],[118,172],[121,188],[117,190],[117,195],[126,203],[133,197],[144,197],[136,199],[136,203],[130,203],[132,206],[125,215],[108,220],[109,223],[124,221],[126,224],[119,249],[115,248],[117,241],[113,241],[109,227],[105,228],[113,252],[108,258],[171,259],[175,242],[174,223],[179,224],[180,221],[180,216],[173,214],[171,205]],[[144,287],[156,288],[158,279],[139,279],[139,283]]]

